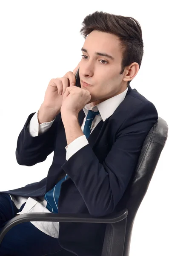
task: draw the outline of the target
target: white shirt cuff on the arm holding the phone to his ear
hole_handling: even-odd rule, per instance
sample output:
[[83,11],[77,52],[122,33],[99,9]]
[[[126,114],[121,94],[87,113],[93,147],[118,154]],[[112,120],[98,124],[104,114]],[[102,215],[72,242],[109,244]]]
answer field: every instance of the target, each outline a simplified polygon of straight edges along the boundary
[[39,122],[37,119],[37,113],[38,111],[32,116],[32,119],[29,123],[29,133],[31,134],[32,137],[43,134],[52,126],[52,123],[54,122],[54,120],[52,120],[51,122],[44,122],[39,125]]

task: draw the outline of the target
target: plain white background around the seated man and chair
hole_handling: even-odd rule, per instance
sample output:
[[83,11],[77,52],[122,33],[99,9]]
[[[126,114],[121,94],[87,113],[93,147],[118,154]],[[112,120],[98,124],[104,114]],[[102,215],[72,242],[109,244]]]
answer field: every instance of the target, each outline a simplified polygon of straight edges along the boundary
[[[149,99],[169,124],[166,1],[0,1],[0,191],[46,177],[53,153],[43,163],[20,166],[17,137],[36,112],[52,78],[73,71],[81,59],[81,23],[95,11],[134,17],[141,25],[143,61],[131,87]],[[130,256],[167,256],[169,242],[169,141],[137,211]]]

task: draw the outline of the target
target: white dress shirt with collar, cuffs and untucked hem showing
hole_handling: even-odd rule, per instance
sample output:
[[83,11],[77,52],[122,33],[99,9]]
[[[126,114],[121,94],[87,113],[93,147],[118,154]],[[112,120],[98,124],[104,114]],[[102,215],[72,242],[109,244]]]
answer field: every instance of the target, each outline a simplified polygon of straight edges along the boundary
[[[83,120],[83,124],[81,126],[81,129],[83,131],[86,116],[88,114],[89,110],[92,111],[99,111],[100,115],[96,115],[93,119],[92,126],[91,126],[91,133],[95,129],[96,125],[100,122],[101,119],[103,119],[103,122],[106,120],[106,118],[109,118],[111,116],[116,108],[120,105],[120,103],[124,100],[126,93],[127,93],[128,87],[126,88],[123,93],[118,94],[117,96],[114,96],[110,99],[107,99],[96,106],[92,107],[92,104],[87,104],[83,111],[85,113],[85,117]],[[29,123],[29,132],[32,137],[38,136],[39,134],[44,133],[47,131],[52,123],[54,122],[45,122],[39,125],[38,119],[37,119],[37,112],[32,116],[32,119]],[[72,143],[66,146],[66,160],[68,161],[70,157],[72,157],[73,154],[75,154],[80,148],[83,148],[85,145],[89,144],[88,140],[86,139],[86,136],[80,136]],[[41,198],[30,198],[30,197],[22,197],[22,196],[14,196],[10,195],[12,201],[14,201],[14,204],[16,205],[17,209],[20,209],[23,203],[26,202],[25,206],[23,207],[23,210],[21,212],[18,212],[18,214],[28,213],[28,212],[50,212],[47,208],[47,201],[44,199],[44,197]],[[42,232],[46,233],[49,236],[52,236],[54,238],[58,238],[59,235],[59,222],[45,222],[45,221],[31,221],[32,224],[34,224],[35,227],[37,227]]]

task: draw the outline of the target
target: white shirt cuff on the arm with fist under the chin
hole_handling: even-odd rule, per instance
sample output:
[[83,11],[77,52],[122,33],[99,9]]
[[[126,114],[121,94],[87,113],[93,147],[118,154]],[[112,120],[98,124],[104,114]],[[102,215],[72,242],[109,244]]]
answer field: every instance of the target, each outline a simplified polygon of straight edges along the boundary
[[88,140],[86,139],[85,135],[78,137],[76,140],[72,141],[66,148],[66,160],[68,161],[73,154],[75,154],[78,150],[83,148],[89,144]]

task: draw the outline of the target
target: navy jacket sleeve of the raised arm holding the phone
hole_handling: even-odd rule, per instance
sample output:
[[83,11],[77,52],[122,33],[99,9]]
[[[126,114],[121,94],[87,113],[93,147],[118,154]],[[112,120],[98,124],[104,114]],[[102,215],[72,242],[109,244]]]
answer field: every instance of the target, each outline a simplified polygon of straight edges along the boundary
[[29,122],[35,113],[29,115],[17,139],[17,163],[24,166],[33,166],[36,163],[43,162],[54,151],[57,124],[61,119],[61,114],[59,113],[47,131],[32,137],[29,133]]

